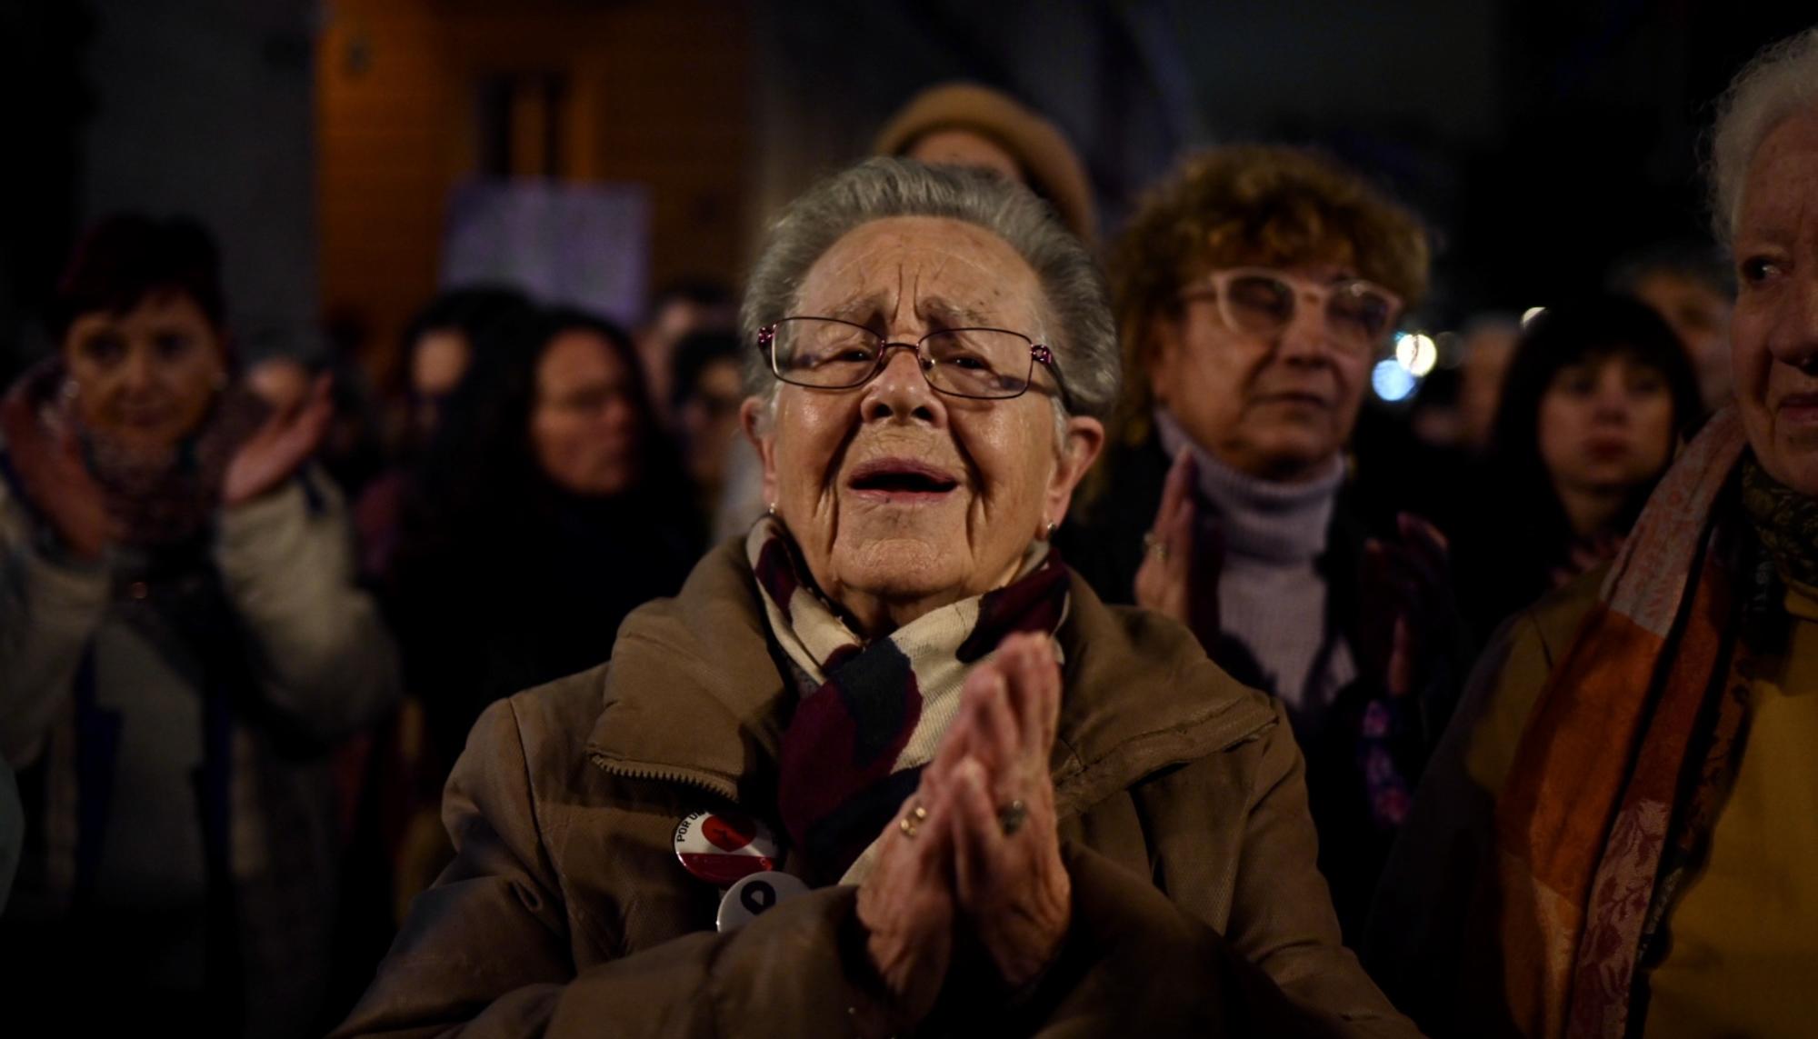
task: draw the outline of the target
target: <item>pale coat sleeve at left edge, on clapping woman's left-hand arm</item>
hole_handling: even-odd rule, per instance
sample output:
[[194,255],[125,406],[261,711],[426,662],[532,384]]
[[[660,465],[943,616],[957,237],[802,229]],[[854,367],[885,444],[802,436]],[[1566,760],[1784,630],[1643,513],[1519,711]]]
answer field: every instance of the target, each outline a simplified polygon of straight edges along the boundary
[[36,761],[107,610],[104,563],[56,559],[0,483],[0,756]]

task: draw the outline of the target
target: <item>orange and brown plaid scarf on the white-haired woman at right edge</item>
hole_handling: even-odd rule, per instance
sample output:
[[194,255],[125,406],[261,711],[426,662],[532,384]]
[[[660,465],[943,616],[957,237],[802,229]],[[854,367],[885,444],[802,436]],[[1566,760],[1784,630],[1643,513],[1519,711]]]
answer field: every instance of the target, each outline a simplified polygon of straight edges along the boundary
[[[1553,668],[1496,801],[1500,965],[1523,1035],[1625,1035],[1709,843],[1747,730],[1773,563],[1738,509],[1745,438],[1716,414],[1649,498]],[[1493,994],[1463,994],[1465,999]]]

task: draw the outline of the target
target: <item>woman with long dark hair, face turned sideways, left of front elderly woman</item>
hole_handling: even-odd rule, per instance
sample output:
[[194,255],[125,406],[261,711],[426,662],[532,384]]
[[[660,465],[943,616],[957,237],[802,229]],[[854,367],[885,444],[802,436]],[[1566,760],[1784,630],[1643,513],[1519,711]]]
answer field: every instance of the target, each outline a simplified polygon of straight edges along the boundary
[[629,336],[578,311],[476,352],[413,480],[393,572],[405,685],[447,767],[487,703],[598,663],[674,594],[698,521]]

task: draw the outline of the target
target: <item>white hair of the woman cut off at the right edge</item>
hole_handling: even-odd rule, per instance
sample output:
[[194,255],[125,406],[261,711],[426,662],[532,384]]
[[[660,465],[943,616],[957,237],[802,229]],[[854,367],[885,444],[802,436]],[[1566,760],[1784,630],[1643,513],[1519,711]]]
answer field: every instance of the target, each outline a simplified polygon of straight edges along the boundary
[[1754,151],[1787,116],[1818,109],[1818,27],[1765,47],[1718,100],[1711,131],[1711,220],[1720,242],[1736,236],[1742,182]]

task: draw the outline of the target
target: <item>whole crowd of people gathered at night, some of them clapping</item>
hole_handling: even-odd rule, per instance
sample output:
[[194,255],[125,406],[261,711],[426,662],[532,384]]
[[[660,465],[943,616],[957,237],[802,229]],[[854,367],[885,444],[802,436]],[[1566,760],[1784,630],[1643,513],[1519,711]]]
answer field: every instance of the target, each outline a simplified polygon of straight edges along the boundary
[[0,403],[9,1004],[1802,1034],[1818,29],[1713,142],[1733,263],[1474,322],[1391,430],[1433,249],[1369,171],[1205,149],[1100,245],[967,84],[738,292],[427,302],[384,418],[236,356],[200,225],[102,220]]

